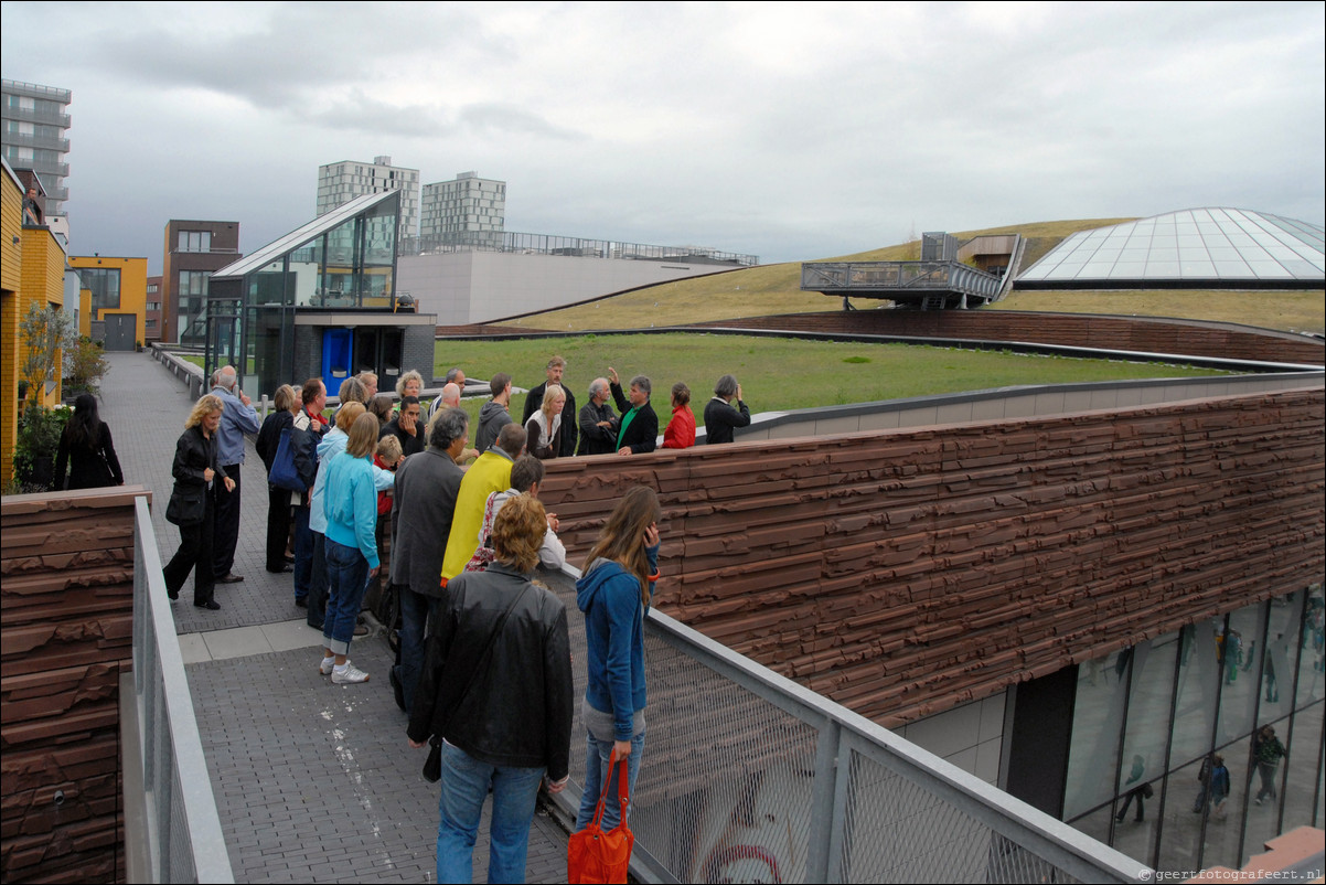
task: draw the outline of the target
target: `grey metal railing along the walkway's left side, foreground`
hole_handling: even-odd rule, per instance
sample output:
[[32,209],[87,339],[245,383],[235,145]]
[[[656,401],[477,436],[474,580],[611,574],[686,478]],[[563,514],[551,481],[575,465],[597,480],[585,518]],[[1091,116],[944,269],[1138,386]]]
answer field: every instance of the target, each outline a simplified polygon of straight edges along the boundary
[[[134,714],[151,882],[233,882],[147,499],[134,502]],[[126,791],[125,803],[138,796]]]

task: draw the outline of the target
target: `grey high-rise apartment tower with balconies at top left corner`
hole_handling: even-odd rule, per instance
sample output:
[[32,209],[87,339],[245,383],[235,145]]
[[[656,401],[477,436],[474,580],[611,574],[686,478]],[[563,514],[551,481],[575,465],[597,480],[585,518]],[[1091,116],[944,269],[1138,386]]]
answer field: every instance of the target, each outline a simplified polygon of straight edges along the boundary
[[30,169],[46,191],[46,215],[65,214],[69,188],[69,100],[68,89],[0,81],[0,146],[11,169]]

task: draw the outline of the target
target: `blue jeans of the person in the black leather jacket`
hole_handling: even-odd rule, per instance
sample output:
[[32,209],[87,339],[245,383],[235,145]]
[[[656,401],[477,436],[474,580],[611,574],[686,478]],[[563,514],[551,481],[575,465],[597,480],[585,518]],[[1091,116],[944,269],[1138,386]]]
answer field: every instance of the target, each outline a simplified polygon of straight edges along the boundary
[[489,766],[443,742],[438,881],[473,881],[475,837],[491,784],[493,813],[488,825],[488,881],[524,882],[529,825],[534,820],[534,800],[542,779],[542,768]]

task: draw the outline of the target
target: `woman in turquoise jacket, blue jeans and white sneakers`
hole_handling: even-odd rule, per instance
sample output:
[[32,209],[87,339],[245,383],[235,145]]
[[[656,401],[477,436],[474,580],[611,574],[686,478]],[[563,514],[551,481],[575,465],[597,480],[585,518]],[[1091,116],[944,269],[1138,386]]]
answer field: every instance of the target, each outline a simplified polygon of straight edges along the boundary
[[[354,638],[363,592],[369,586],[369,579],[378,573],[378,490],[373,472],[378,419],[365,413],[363,405],[357,402],[346,405],[341,411],[355,409],[358,414],[350,423],[345,451],[325,464],[326,487],[322,496],[328,601],[318,671],[330,675],[337,685],[369,681],[369,674],[350,663],[346,655],[350,653],[350,640]],[[341,426],[341,415],[337,415],[337,426]]]

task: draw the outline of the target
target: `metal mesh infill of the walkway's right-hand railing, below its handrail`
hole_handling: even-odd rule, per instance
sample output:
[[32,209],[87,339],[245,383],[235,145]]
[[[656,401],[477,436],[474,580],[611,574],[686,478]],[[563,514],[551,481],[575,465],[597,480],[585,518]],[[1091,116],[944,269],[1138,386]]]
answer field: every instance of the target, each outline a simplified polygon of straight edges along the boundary
[[[582,698],[585,620],[575,610],[574,581],[548,573],[542,580],[568,605]],[[683,882],[801,882],[817,878],[809,868],[817,853],[834,851],[829,881],[1078,881],[964,811],[963,801],[985,800],[952,799],[957,793],[941,775],[846,727],[837,744],[837,766],[846,766],[839,776],[831,752],[817,759],[819,742],[829,740],[821,732],[826,718],[758,678],[719,673],[711,658],[656,624],[647,622],[644,636],[648,723],[631,831],[636,857],[647,853],[666,869],[660,874]],[[585,734],[579,701],[573,734]],[[583,738],[574,738],[573,791],[583,785],[585,752]],[[827,792],[815,791],[817,762],[827,766],[818,776],[835,782],[837,812],[815,811]],[[578,793],[572,801],[578,804]],[[838,825],[827,820],[834,815]],[[1022,828],[1012,821],[1004,832]],[[1086,864],[1099,881],[1131,878],[1109,861]]]

